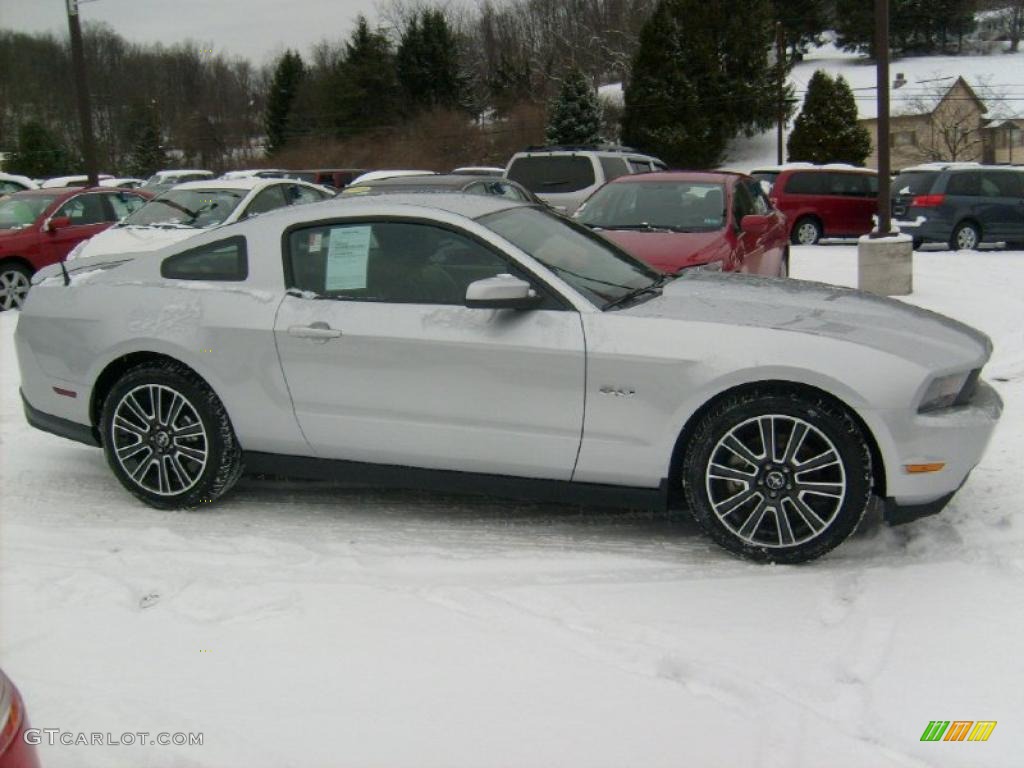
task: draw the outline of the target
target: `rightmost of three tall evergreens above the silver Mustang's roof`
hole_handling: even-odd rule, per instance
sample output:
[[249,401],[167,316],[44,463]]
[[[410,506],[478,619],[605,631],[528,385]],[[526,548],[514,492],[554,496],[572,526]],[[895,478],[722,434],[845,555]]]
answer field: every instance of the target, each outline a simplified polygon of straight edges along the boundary
[[412,106],[455,109],[465,102],[459,41],[440,9],[425,8],[412,17],[401,35],[395,67]]

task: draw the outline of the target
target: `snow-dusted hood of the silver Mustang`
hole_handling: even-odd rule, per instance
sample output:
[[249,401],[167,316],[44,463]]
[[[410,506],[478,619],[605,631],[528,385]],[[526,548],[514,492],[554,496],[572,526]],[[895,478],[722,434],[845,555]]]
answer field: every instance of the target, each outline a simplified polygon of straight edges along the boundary
[[930,370],[978,368],[992,353],[985,334],[895,299],[807,281],[687,272],[632,315],[770,328],[872,347]]

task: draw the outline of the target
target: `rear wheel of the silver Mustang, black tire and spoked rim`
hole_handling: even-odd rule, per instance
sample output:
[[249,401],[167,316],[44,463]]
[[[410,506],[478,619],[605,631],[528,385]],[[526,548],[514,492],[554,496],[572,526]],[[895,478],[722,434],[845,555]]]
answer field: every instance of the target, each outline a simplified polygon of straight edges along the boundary
[[100,429],[115,476],[157,509],[212,503],[242,473],[242,450],[223,403],[177,362],[128,371],[103,400]]

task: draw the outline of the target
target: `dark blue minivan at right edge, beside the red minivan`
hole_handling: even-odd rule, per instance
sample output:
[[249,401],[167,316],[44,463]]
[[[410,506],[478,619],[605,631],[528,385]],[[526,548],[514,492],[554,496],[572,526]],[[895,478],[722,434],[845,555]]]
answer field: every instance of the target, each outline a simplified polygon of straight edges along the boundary
[[1024,248],[1024,168],[969,163],[927,164],[900,172],[892,184],[893,218],[924,243],[972,250],[1005,242]]

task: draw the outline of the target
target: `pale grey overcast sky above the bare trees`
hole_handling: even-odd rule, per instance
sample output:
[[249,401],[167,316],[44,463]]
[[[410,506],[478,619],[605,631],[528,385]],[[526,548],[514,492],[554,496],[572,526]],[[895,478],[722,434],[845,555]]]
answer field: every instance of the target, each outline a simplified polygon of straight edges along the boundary
[[[135,42],[211,43],[262,63],[285,48],[305,54],[323,38],[345,37],[375,0],[92,0],[83,22],[104,22]],[[0,28],[67,34],[65,0],[0,0]]]

